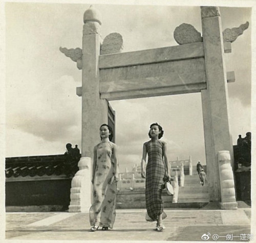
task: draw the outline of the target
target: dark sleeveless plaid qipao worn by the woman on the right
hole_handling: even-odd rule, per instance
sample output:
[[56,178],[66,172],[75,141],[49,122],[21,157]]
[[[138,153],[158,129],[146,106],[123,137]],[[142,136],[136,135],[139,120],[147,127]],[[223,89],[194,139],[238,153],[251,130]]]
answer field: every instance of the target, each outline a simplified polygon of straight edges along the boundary
[[[147,141],[144,143],[148,154],[146,165],[146,210],[151,219],[157,221],[159,214],[163,212],[162,186],[163,178],[166,175],[165,164],[163,161],[164,141]],[[163,213],[163,218],[166,214]]]

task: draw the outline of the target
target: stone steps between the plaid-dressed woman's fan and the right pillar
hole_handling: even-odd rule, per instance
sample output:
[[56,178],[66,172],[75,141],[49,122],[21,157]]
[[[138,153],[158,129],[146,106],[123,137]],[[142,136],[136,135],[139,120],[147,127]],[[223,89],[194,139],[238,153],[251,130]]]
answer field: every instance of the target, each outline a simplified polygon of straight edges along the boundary
[[199,176],[185,176],[184,187],[179,187],[178,203],[209,202],[208,184],[202,186]]

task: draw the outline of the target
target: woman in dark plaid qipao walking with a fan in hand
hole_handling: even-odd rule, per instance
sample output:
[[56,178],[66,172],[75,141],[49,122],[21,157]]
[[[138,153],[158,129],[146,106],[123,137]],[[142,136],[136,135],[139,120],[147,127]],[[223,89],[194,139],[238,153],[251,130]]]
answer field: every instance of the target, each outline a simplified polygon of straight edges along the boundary
[[[150,126],[148,136],[151,140],[143,144],[141,160],[141,176],[146,178],[146,210],[150,217],[146,220],[157,221],[156,230],[162,231],[165,228],[162,220],[166,217],[163,212],[162,188],[166,180],[170,180],[166,143],[159,140],[163,136],[163,129],[157,123]],[[146,155],[148,161],[145,169]]]

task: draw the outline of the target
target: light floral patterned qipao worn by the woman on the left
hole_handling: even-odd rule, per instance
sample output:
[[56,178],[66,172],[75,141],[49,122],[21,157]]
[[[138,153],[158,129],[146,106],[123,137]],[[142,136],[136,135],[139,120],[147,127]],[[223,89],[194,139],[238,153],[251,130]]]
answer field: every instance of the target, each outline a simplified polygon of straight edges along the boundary
[[114,161],[113,142],[100,142],[96,145],[97,164],[93,183],[93,205],[90,208],[91,226],[113,228],[116,216],[117,182],[113,181]]

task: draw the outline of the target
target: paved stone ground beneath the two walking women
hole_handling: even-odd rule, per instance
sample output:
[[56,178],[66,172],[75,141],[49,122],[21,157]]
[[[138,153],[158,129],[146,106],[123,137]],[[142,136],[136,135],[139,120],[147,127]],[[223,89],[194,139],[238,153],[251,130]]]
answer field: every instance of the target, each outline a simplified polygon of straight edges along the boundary
[[[88,213],[9,212],[6,213],[6,239],[10,240],[155,240],[202,241],[202,235],[218,241],[248,241],[250,208],[238,210],[166,209],[166,229],[154,231],[146,222],[145,209],[118,209],[114,229],[90,232]],[[229,235],[228,235],[229,234]],[[242,235],[241,235],[242,234]],[[231,239],[232,236],[232,239]],[[256,235],[255,235],[256,238]],[[2,241],[1,241],[2,242]],[[255,241],[256,242],[256,241]]]

